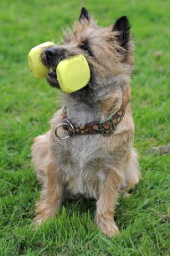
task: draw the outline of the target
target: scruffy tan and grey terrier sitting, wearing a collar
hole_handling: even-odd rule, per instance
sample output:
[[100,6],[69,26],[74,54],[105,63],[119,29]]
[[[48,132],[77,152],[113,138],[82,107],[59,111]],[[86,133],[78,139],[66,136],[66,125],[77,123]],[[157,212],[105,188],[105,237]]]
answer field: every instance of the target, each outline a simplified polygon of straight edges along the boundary
[[65,195],[81,194],[96,198],[96,223],[103,234],[114,236],[119,232],[114,222],[118,196],[140,179],[128,104],[134,67],[128,18],[103,28],[83,7],[73,31],[64,32],[63,44],[46,47],[41,55],[50,67],[51,86],[60,87],[58,63],[77,54],[88,61],[90,81],[79,91],[63,93],[64,105],[50,121],[51,130],[35,138],[32,146],[43,184],[34,222],[39,225],[55,215]]

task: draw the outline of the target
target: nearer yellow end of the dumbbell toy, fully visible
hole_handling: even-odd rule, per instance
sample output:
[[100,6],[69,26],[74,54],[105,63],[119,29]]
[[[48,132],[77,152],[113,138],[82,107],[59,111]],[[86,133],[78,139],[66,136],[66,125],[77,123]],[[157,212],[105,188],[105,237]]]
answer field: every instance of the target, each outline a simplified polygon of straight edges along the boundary
[[90,68],[83,55],[62,60],[57,66],[56,73],[62,91],[66,93],[82,89],[90,80]]

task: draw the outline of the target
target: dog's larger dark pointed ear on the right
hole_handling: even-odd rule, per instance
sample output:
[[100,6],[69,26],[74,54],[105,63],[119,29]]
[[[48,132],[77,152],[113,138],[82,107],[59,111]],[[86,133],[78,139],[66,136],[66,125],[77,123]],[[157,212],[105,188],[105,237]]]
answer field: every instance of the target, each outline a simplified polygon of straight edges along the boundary
[[117,41],[124,48],[127,49],[130,37],[130,23],[128,17],[122,16],[113,25],[113,31],[118,31]]

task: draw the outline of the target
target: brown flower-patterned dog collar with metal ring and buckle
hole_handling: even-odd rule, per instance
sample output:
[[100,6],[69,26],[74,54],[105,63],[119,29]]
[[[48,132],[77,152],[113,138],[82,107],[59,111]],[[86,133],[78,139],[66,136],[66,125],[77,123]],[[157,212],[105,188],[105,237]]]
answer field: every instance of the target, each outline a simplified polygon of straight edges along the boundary
[[[63,109],[63,123],[59,124],[55,129],[55,135],[58,139],[67,139],[69,137],[74,137],[75,135],[91,135],[101,133],[104,137],[111,135],[118,123],[121,122],[124,117],[125,109],[121,107],[119,110],[111,114],[103,122],[92,122],[85,125],[76,126],[69,121],[67,117],[67,109]],[[66,131],[66,137],[60,137],[57,133],[57,130],[60,126],[63,126],[63,129]]]

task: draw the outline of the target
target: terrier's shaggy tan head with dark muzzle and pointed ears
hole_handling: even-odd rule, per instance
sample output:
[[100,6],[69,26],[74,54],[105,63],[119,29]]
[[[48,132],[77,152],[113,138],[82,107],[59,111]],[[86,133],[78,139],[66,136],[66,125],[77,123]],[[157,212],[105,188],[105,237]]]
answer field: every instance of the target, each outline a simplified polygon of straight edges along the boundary
[[102,91],[111,93],[117,86],[123,86],[129,81],[133,67],[128,18],[123,16],[114,25],[103,28],[97,26],[83,7],[79,21],[73,23],[73,31],[69,28],[64,31],[62,44],[50,46],[41,55],[43,64],[51,68],[47,75],[51,86],[60,87],[56,77],[58,63],[76,54],[87,59],[91,78],[87,86],[73,95],[88,95],[97,101]]

